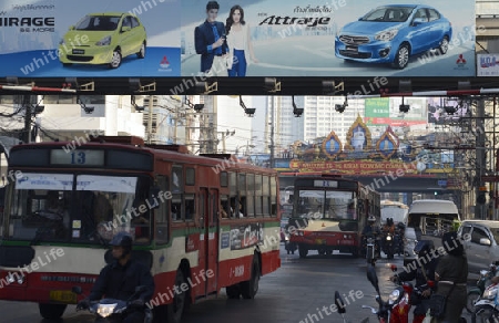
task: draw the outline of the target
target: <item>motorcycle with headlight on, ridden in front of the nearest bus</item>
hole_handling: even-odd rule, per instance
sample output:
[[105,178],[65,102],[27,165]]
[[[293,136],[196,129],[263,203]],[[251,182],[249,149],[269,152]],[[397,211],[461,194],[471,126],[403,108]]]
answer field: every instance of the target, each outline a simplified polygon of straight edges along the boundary
[[[129,311],[133,309],[131,302],[143,291],[145,286],[138,286],[135,292],[126,300],[115,300],[115,299],[102,299],[100,301],[90,302],[89,309],[86,309],[90,313],[95,315],[95,322],[104,323],[104,322],[121,322],[123,314],[126,314]],[[72,292],[75,294],[81,294],[82,289],[80,286],[73,286]],[[144,312],[144,323],[153,322],[153,313],[152,310],[147,306],[140,309]],[[80,311],[77,309],[77,311]]]

